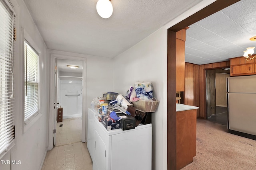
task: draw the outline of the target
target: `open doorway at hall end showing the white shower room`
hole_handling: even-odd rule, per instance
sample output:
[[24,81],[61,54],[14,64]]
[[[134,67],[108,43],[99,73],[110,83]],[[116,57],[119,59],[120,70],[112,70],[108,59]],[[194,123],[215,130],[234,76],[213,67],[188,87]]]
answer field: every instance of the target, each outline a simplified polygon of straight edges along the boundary
[[86,59],[50,54],[50,66],[48,150],[86,140]]

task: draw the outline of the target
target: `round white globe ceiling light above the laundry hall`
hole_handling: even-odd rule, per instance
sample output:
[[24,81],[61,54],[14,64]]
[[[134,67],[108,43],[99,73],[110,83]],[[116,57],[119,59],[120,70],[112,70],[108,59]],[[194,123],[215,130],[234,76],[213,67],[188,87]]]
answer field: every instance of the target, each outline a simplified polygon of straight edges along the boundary
[[113,6],[110,0],[98,0],[96,10],[102,18],[110,18],[113,13]]

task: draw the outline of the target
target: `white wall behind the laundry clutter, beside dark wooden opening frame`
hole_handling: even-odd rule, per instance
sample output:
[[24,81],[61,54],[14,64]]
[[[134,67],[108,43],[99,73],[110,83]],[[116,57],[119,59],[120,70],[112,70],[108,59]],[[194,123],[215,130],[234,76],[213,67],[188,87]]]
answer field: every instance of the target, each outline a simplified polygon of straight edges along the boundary
[[[124,94],[137,81],[151,81],[160,101],[152,113],[152,170],[167,169],[167,30],[159,29],[114,58],[114,90]],[[138,153],[139,154],[139,153]]]

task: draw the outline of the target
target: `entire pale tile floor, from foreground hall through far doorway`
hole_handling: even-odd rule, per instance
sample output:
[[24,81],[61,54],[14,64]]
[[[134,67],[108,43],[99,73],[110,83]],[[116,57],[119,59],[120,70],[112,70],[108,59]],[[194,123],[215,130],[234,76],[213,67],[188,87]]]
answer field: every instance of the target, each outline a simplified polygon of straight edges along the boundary
[[[59,127],[62,124],[62,127]],[[81,142],[82,119],[63,119],[57,123],[56,145],[46,154],[42,170],[92,170],[92,159]]]

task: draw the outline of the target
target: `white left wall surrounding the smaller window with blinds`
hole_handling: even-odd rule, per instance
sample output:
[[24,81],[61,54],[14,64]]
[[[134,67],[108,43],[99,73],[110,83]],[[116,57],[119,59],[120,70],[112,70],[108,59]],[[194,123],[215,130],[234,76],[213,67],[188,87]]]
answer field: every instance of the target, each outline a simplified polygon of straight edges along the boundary
[[[21,164],[13,164],[12,170],[38,170],[44,159],[48,147],[48,57],[46,45],[32,17],[28,13],[22,0],[11,0],[16,11],[17,40],[14,42],[14,106],[15,106],[15,145],[12,149],[12,160],[20,160]],[[24,133],[22,130],[22,94],[24,92],[22,72],[22,32],[24,27],[40,51],[40,109],[42,116],[35,122],[30,122],[30,128]],[[10,151],[1,160],[10,160]],[[0,164],[0,169],[4,169]],[[7,169],[9,169],[8,167]]]

